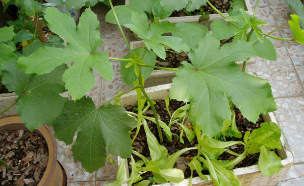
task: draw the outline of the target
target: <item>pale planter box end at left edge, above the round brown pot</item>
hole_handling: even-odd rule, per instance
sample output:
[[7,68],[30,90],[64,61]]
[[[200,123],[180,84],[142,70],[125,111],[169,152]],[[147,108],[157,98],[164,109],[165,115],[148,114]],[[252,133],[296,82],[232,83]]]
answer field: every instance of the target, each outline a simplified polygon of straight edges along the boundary
[[[13,104],[17,98],[18,98],[18,95],[16,95],[16,93],[0,94],[0,112],[2,110],[6,109],[11,104]],[[13,106],[10,109],[8,109],[7,111],[5,111],[3,114],[0,115],[0,117],[11,116],[11,115],[17,115],[15,106]]]

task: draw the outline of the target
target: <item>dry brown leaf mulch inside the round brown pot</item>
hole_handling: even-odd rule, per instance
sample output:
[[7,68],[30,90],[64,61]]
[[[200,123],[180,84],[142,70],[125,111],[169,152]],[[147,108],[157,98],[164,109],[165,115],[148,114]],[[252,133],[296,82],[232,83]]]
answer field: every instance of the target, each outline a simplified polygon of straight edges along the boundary
[[36,186],[48,164],[48,146],[43,137],[24,130],[0,132],[1,186]]

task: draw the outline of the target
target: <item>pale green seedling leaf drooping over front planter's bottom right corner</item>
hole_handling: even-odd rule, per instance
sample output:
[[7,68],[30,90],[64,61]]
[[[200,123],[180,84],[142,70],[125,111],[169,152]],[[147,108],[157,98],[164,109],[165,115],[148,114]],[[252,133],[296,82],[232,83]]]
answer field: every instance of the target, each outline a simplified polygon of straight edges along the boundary
[[281,170],[281,159],[273,151],[267,151],[265,146],[260,148],[260,157],[258,158],[258,167],[265,176],[271,176],[279,173]]

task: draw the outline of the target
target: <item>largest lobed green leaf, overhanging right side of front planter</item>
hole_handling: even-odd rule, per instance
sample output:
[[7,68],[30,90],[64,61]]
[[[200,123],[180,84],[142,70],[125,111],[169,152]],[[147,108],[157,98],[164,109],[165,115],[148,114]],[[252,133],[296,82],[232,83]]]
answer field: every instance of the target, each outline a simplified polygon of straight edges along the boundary
[[184,61],[179,66],[170,89],[172,99],[191,102],[191,122],[200,125],[209,138],[222,131],[224,119],[231,119],[227,96],[243,116],[253,122],[261,113],[278,108],[268,80],[240,71],[234,62],[253,57],[253,44],[235,41],[219,46],[219,40],[206,34],[189,52],[192,65]]

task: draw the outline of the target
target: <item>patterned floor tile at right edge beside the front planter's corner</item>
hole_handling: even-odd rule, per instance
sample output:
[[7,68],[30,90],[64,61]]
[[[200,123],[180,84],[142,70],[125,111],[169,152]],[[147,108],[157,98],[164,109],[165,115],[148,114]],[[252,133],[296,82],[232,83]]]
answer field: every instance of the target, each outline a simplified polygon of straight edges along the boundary
[[294,163],[304,163],[304,96],[276,99],[279,123],[290,145]]

